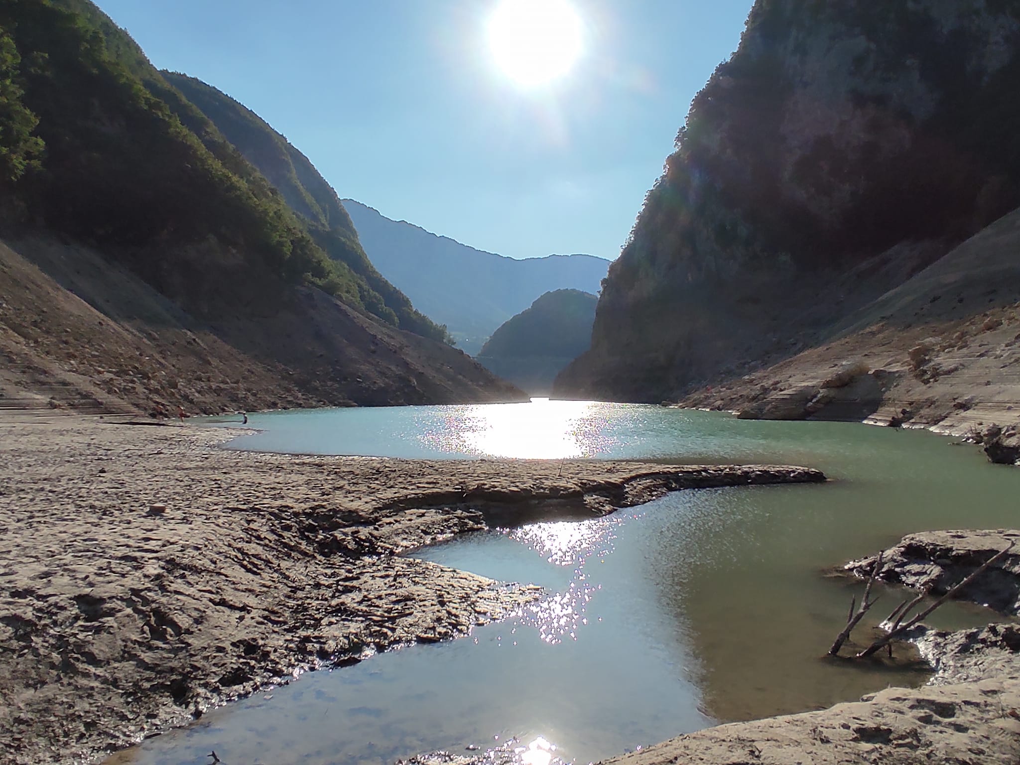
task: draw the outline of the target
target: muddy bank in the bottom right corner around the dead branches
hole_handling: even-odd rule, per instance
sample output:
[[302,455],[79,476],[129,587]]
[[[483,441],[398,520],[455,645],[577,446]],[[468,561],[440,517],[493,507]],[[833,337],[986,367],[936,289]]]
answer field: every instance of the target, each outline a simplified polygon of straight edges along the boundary
[[[990,558],[1000,543],[1015,538],[1020,531],[909,534],[885,551],[879,576],[911,586],[934,584],[932,594],[941,594]],[[873,562],[851,561],[839,570],[862,576]],[[1018,571],[1017,556],[1007,556],[988,570],[989,577],[974,582],[982,586],[964,590],[962,597],[986,602],[990,594],[993,605],[1015,614]],[[1020,759],[1020,624],[958,631],[922,624],[911,640],[934,671],[921,687],[888,687],[823,710],[716,725],[601,765],[1015,765]],[[514,753],[518,746],[473,755],[437,752],[399,765],[521,765]]]

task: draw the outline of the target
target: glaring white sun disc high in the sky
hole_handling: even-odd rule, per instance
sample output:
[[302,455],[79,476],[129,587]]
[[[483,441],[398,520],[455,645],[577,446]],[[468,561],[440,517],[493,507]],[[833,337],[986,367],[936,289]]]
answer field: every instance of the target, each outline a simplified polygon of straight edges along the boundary
[[567,0],[500,0],[489,46],[500,69],[522,88],[549,85],[580,57],[581,20]]

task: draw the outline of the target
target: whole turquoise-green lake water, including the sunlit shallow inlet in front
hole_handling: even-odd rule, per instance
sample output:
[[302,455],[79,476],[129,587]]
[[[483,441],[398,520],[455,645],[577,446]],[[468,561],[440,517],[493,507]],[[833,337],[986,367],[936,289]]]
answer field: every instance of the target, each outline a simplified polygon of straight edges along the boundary
[[[470,534],[419,557],[542,584],[534,609],[471,636],[310,673],[120,762],[392,763],[544,736],[589,762],[715,721],[803,711],[923,667],[822,659],[860,585],[822,569],[928,528],[1016,526],[1020,471],[930,434],[543,402],[251,417],[234,446],[382,456],[620,457],[819,467],[824,486],[681,492],[582,523]],[[301,435],[306,434],[306,441]],[[876,620],[899,602],[890,593]],[[887,607],[886,607],[887,605]],[[987,621],[953,604],[935,623]],[[867,630],[861,632],[866,635]],[[498,738],[497,738],[498,737]]]

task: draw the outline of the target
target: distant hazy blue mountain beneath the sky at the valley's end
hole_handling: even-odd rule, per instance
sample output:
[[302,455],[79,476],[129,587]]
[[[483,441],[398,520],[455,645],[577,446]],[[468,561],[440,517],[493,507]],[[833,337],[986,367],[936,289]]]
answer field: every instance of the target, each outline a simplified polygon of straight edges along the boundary
[[496,328],[551,290],[597,293],[609,261],[592,255],[513,258],[475,250],[352,199],[344,206],[372,263],[474,354]]

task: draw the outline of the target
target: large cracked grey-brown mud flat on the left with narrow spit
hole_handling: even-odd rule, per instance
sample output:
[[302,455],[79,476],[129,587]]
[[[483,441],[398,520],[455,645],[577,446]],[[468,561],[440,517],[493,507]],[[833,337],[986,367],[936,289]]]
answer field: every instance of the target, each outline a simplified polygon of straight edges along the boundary
[[95,758],[321,662],[466,632],[534,599],[398,554],[775,466],[292,457],[237,431],[0,419],[0,762]]

